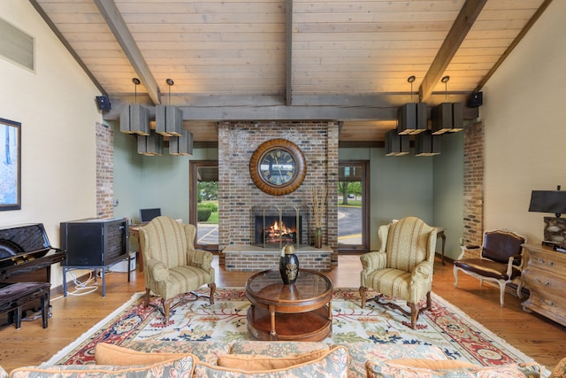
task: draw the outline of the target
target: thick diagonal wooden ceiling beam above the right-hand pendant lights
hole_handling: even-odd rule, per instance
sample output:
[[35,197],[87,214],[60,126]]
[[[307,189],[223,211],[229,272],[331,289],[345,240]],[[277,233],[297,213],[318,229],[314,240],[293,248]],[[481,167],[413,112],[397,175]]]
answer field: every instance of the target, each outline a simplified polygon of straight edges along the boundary
[[487,0],[466,0],[463,4],[454,24],[448,31],[446,39],[442,42],[440,50],[432,61],[432,65],[424,75],[424,79],[418,89],[418,96],[421,102],[426,102],[432,95],[432,91],[439,83],[447,66],[454,58],[456,51],[460,48],[464,38],[470,32],[470,28],[478,19],[478,15],[486,3]]

